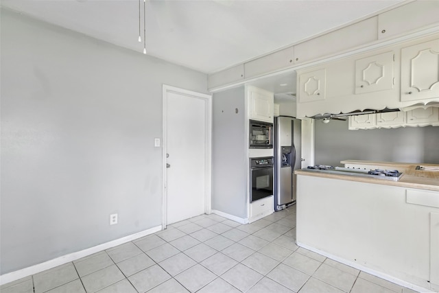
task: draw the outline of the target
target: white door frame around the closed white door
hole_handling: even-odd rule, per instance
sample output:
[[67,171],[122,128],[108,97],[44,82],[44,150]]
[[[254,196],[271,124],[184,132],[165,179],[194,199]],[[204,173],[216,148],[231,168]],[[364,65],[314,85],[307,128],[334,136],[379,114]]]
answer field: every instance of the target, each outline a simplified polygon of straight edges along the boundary
[[204,130],[206,137],[204,138],[204,162],[205,162],[205,182],[204,182],[204,213],[210,214],[211,194],[212,194],[212,95],[198,93],[186,89],[180,89],[175,86],[163,84],[163,130],[162,130],[162,228],[167,226],[167,175],[166,175],[166,154],[167,154],[167,93],[177,93],[186,95],[195,99],[203,99],[205,102]]

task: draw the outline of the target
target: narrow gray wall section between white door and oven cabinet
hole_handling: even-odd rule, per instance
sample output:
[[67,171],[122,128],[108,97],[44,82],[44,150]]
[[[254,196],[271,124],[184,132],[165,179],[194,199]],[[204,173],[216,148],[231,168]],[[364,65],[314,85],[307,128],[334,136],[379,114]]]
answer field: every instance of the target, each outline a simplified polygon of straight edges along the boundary
[[212,209],[239,218],[248,209],[244,95],[244,86],[213,95]]

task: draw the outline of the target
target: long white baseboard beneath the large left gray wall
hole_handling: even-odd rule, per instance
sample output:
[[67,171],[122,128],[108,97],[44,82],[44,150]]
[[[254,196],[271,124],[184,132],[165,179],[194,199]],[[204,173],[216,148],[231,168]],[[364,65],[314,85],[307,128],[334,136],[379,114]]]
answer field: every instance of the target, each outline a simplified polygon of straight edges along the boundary
[[71,261],[75,261],[76,259],[80,259],[82,257],[86,257],[88,255],[93,255],[93,253],[99,253],[99,251],[106,250],[108,248],[112,248],[118,246],[120,244],[124,244],[126,242],[130,242],[134,239],[150,235],[152,233],[156,233],[161,231],[162,226],[155,226],[153,228],[149,228],[145,231],[141,231],[139,233],[134,233],[132,235],[128,235],[126,237],[121,237],[119,239],[112,240],[110,242],[106,242],[104,244],[99,244],[97,246],[93,246],[91,248],[86,248],[84,250],[80,250],[75,253],[69,253],[68,255],[62,255],[62,257],[57,257],[56,259],[51,259],[49,261],[45,261],[43,263],[38,263],[35,266],[29,266],[27,268],[23,268],[21,270],[16,270],[14,272],[8,272],[8,274],[2,274],[0,276],[0,285],[10,283],[12,281],[19,280],[21,278],[30,276],[32,274],[37,274],[38,272],[43,272],[45,270],[49,270],[51,268],[55,268],[57,266],[61,266],[64,263],[69,263]]

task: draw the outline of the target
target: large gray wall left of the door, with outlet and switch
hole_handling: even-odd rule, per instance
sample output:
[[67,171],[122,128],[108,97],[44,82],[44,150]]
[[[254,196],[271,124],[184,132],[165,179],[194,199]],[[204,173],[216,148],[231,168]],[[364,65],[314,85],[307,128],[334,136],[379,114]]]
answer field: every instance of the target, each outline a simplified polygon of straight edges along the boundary
[[206,80],[2,8],[1,274],[160,225],[162,84]]

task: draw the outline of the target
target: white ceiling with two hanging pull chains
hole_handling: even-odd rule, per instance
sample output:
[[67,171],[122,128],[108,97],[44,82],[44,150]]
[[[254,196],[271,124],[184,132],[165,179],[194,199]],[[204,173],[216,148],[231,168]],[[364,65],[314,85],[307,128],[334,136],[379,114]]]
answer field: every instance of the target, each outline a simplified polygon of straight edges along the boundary
[[[401,2],[147,0],[146,49],[212,73]],[[142,54],[139,0],[1,0],[1,5]]]

